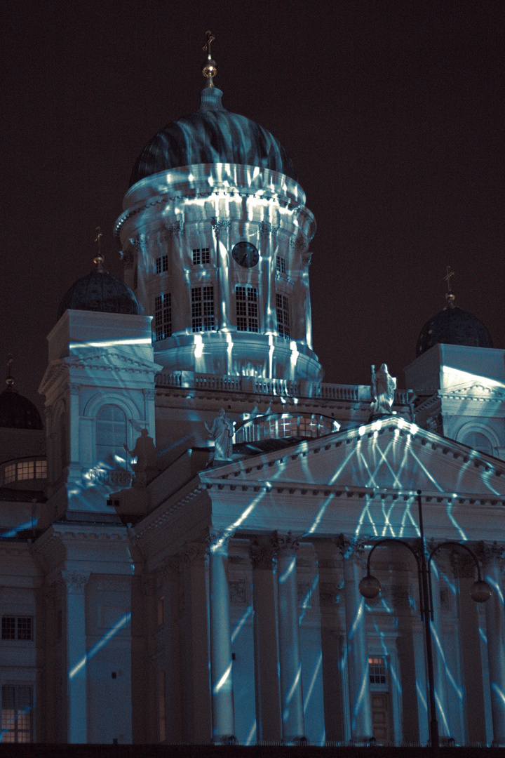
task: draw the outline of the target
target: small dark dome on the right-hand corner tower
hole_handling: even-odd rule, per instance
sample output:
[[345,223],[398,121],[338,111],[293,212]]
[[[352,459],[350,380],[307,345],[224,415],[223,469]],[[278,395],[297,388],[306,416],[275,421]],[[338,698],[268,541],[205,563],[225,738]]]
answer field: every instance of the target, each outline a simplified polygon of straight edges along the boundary
[[416,356],[438,344],[492,347],[491,334],[479,318],[452,305],[426,321],[417,340]]

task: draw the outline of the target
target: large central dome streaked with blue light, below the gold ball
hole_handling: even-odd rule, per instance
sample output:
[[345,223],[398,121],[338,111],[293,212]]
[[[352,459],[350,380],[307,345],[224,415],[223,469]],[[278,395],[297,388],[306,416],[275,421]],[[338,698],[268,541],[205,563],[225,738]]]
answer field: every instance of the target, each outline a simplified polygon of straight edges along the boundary
[[201,163],[269,168],[296,181],[295,168],[279,141],[254,121],[226,111],[222,96],[220,89],[206,87],[196,113],[158,132],[136,161],[129,186],[160,171]]

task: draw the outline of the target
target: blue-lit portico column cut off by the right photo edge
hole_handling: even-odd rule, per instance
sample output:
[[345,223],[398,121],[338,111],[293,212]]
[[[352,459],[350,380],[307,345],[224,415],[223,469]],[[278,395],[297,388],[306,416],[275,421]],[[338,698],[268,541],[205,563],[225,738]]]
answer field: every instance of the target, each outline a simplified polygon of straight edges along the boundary
[[493,590],[485,603],[493,744],[505,745],[505,613],[500,559],[491,559],[485,578]]

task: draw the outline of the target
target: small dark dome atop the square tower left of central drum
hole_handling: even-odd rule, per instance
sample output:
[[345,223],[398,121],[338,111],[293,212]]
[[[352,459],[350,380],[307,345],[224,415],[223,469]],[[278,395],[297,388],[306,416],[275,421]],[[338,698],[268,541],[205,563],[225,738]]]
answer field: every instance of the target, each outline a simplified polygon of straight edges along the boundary
[[104,271],[101,266],[103,261],[103,256],[98,255],[95,258],[97,271],[79,279],[67,290],[58,308],[57,321],[67,309],[139,315],[139,302],[132,290],[120,279]]

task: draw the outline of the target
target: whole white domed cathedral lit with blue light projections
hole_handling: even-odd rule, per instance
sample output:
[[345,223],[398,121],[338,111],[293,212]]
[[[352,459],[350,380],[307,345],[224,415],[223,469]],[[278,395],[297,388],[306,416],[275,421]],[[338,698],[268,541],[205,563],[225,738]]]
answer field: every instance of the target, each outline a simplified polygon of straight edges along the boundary
[[406,389],[326,384],[316,222],[207,54],[124,280],[61,299],[45,424],[0,394],[2,741],[505,745],[504,351],[447,271]]

